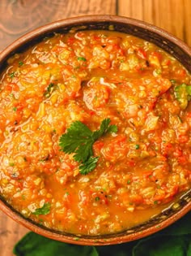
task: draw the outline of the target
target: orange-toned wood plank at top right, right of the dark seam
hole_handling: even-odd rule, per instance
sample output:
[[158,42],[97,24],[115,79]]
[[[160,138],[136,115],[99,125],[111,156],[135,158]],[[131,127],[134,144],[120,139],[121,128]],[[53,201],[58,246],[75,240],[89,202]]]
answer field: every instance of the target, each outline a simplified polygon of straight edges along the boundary
[[190,0],[118,0],[117,13],[155,24],[191,46]]

